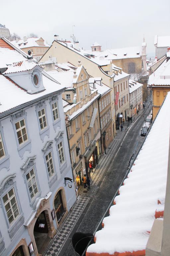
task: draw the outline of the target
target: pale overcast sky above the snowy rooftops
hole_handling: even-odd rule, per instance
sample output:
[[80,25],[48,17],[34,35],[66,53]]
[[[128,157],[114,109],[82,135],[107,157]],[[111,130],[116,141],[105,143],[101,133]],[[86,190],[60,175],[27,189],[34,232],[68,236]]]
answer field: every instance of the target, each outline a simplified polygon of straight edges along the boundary
[[[154,35],[170,35],[170,0],[8,0],[0,2],[0,23],[23,38],[31,32],[47,41],[70,40],[72,28],[83,49],[140,46],[155,52]],[[75,25],[75,27],[72,27]],[[148,56],[149,57],[149,56]]]

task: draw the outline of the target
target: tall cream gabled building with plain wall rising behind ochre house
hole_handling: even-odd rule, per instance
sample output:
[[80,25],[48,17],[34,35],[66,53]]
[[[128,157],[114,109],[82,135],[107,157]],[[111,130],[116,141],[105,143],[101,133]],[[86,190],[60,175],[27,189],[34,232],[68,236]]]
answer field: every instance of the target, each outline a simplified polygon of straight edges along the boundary
[[[70,62],[77,66],[80,61],[86,69],[90,77],[102,77],[102,81],[105,85],[109,86],[113,90],[111,91],[111,117],[115,127],[115,98],[114,98],[114,76],[112,70],[111,61],[95,60],[84,56],[81,51],[76,50],[73,47],[68,46],[67,43],[54,40],[48,51],[42,56],[40,61],[48,61],[49,56],[52,59],[56,57],[57,63]],[[113,133],[115,135],[115,129]]]

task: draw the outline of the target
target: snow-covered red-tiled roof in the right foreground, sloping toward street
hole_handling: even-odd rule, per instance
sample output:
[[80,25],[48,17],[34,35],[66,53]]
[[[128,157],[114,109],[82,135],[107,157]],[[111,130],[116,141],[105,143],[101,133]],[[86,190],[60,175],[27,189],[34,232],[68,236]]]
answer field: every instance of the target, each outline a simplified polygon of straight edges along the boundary
[[124,186],[119,189],[115,205],[111,206],[109,216],[103,219],[104,228],[96,232],[96,242],[87,248],[86,256],[145,255],[155,213],[164,210],[170,136],[169,104],[170,92]]

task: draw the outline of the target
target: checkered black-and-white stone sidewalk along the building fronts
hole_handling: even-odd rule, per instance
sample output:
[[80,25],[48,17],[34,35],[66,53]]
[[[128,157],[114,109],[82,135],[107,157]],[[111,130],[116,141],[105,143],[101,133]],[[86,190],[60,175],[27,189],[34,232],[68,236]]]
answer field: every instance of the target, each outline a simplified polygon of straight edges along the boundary
[[[117,135],[114,140],[111,142],[109,147],[106,149],[106,155],[103,154],[99,160],[99,164],[95,170],[95,172],[91,173],[91,190],[87,192],[87,189],[83,187],[79,191],[78,200],[76,201],[75,205],[73,206],[72,210],[69,212],[68,216],[64,220],[63,224],[57,231],[55,237],[51,240],[50,244],[48,245],[46,251],[44,252],[44,256],[57,256],[61,251],[64,243],[66,242],[67,238],[71,234],[72,229],[74,228],[76,222],[78,221],[82,211],[84,210],[85,206],[87,205],[89,199],[93,197],[95,194],[98,183],[102,178],[102,175],[107,170],[110,162],[114,158],[115,154],[120,148],[121,142],[123,141],[126,132],[127,132],[127,124],[125,122],[123,131],[118,130]],[[129,124],[129,127],[132,124]]]

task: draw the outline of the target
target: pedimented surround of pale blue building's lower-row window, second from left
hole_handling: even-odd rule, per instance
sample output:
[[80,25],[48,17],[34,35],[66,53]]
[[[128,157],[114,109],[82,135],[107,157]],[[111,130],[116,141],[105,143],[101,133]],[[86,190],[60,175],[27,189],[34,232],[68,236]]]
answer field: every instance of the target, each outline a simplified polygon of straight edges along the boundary
[[[32,156],[32,157],[27,157],[27,160],[24,162],[24,164],[20,167],[20,169],[23,171],[23,178],[24,178],[24,183],[26,184],[26,188],[27,188],[27,194],[29,197],[29,201],[30,201],[30,206],[33,207],[34,202],[36,201],[36,199],[38,197],[40,197],[41,195],[41,190],[40,190],[40,184],[39,184],[39,180],[38,180],[38,175],[37,175],[37,168],[36,168],[36,164],[35,164],[35,159],[36,156]],[[30,196],[30,192],[29,192],[29,188],[28,188],[28,183],[27,183],[27,178],[26,175],[27,173],[29,173],[32,169],[34,168],[34,172],[35,172],[35,176],[36,176],[36,181],[37,181],[37,186],[38,186],[38,193],[36,194],[36,196],[31,199]]]

